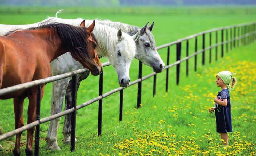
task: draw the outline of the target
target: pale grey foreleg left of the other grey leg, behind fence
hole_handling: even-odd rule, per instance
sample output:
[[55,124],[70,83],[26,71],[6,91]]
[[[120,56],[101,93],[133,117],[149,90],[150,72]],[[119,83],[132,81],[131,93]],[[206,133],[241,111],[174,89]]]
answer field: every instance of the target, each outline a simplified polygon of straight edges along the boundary
[[[52,82],[52,93],[51,93],[51,115],[57,114],[62,111],[63,100],[65,91],[67,89],[69,79],[62,79],[59,81]],[[58,146],[58,125],[60,118],[56,118],[50,121],[49,130],[46,137],[48,143],[46,149],[60,150]]]

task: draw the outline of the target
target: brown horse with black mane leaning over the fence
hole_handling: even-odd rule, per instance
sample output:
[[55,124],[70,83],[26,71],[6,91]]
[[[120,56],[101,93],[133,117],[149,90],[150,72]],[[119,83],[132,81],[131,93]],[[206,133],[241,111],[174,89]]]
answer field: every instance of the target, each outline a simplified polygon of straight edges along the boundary
[[[58,56],[71,56],[88,68],[92,75],[102,72],[102,64],[96,52],[97,41],[92,33],[95,22],[85,28],[55,23],[16,31],[0,37],[0,88],[49,77],[50,62]],[[41,99],[45,84],[41,85]],[[35,121],[37,87],[24,89],[0,96],[0,99],[14,98],[15,129],[24,125],[23,102],[29,99],[27,123]],[[34,128],[27,130],[26,155],[33,154]],[[19,156],[21,133],[16,135],[13,154]]]

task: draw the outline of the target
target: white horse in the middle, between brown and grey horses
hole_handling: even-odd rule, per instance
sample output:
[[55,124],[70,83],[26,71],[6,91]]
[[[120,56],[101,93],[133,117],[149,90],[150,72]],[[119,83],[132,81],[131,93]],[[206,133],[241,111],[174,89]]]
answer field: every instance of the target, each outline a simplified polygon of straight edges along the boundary
[[[83,22],[83,19],[79,18],[76,20],[68,20],[61,18],[49,18],[44,20],[44,22],[45,21],[47,21],[47,23],[58,22],[79,26],[80,23]],[[45,23],[38,23],[38,25],[42,24]],[[90,24],[91,23],[89,22],[85,22],[86,26],[89,26]],[[15,28],[19,28],[19,26],[17,25]],[[22,26],[22,28],[24,28],[24,26]],[[136,54],[135,41],[138,39],[139,32],[130,36],[126,33],[122,33],[121,29],[117,30],[106,25],[96,24],[93,33],[98,41],[98,45],[96,47],[98,56],[106,56],[109,59],[110,64],[118,73],[119,84],[126,87],[130,82],[129,67]],[[58,60],[53,60],[51,62],[51,67],[52,75],[63,74],[83,68],[83,66],[75,61],[69,53],[58,57]],[[80,84],[80,81],[85,79],[88,75],[89,73],[78,75],[78,83]],[[64,95],[69,81],[70,78],[67,78],[52,83],[51,115],[61,112]],[[50,125],[46,138],[46,141],[48,142],[48,149],[60,149],[57,144],[58,126],[52,126],[58,125],[58,122],[59,118],[51,121],[53,124]]]

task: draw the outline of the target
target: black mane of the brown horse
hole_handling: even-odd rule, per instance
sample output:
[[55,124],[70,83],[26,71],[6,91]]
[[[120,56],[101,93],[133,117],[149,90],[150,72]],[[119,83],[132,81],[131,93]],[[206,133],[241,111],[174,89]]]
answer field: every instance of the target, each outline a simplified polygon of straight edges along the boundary
[[[88,34],[86,33],[86,27],[77,27],[62,23],[51,23],[43,25],[42,23],[41,26],[29,28],[27,30],[38,30],[44,28],[49,28],[48,34],[52,41],[54,35],[57,35],[60,38],[63,46],[67,49],[68,52],[70,52],[71,56],[75,60],[82,59],[84,61],[88,61],[91,64],[95,64],[93,60],[91,60],[87,49]],[[91,33],[91,35],[93,40],[97,43],[94,34]]]

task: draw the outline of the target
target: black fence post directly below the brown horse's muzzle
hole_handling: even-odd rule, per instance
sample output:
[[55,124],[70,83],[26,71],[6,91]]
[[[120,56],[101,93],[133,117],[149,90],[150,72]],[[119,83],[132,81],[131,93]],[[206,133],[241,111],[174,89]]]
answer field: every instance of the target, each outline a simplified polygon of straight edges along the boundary
[[[103,71],[99,75],[99,96],[102,97],[103,93]],[[101,125],[102,125],[102,99],[99,100],[99,111],[98,111],[98,136],[101,135]]]

